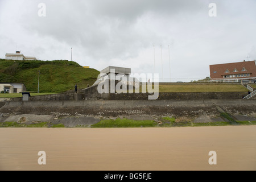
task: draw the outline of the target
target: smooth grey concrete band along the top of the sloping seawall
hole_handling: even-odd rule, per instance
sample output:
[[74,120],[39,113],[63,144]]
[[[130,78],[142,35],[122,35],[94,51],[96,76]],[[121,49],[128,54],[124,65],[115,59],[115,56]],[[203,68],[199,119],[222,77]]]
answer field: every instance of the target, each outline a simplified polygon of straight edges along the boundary
[[111,108],[129,107],[129,106],[163,106],[163,105],[256,105],[255,100],[86,100],[86,101],[6,101],[4,106],[104,106]]

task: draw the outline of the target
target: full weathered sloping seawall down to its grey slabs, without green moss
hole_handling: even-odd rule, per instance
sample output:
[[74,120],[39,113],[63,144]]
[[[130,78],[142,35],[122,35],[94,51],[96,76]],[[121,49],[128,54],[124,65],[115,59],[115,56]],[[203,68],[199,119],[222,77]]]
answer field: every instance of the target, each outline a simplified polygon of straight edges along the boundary
[[[3,102],[2,102],[3,105]],[[154,120],[174,117],[176,122],[256,121],[255,100],[87,100],[7,101],[0,108],[0,122],[93,125],[101,119]]]

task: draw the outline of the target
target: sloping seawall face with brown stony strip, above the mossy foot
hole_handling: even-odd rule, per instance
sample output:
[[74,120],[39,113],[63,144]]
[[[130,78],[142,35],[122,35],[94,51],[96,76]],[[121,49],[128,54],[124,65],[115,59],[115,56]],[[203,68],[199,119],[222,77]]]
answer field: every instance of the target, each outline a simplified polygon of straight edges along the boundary
[[139,100],[139,101],[7,101],[1,113],[51,114],[54,112],[118,116],[123,114],[216,114],[216,106],[231,113],[256,113],[255,100]]

